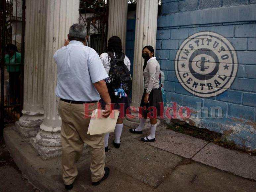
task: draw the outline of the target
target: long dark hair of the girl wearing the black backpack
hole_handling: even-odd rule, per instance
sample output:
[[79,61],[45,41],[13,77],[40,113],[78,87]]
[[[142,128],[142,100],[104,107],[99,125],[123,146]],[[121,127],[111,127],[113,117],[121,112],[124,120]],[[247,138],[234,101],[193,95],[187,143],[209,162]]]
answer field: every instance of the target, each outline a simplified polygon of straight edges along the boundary
[[115,52],[116,58],[120,59],[122,55],[123,47],[122,47],[122,41],[118,36],[112,36],[109,38],[107,51]]

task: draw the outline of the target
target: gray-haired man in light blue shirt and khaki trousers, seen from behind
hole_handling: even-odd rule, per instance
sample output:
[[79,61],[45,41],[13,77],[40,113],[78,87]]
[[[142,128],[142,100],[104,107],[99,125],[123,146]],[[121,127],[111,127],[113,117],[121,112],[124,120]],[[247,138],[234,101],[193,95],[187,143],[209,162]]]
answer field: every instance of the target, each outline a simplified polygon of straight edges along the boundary
[[100,96],[107,104],[102,116],[107,118],[111,113],[111,100],[104,80],[108,74],[96,51],[85,46],[86,38],[85,26],[73,24],[69,29],[69,41],[65,40],[65,46],[53,56],[58,68],[55,93],[60,98],[62,169],[67,190],[73,188],[76,163],[84,143],[90,149],[92,184],[100,184],[109,175],[109,168],[104,168],[104,135],[87,134],[89,117],[92,110],[97,109]]

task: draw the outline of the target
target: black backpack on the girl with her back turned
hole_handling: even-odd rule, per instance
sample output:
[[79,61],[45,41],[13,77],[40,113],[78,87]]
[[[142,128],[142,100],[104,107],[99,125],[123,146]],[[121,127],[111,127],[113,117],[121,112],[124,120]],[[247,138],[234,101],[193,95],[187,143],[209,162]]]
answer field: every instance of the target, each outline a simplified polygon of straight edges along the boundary
[[117,59],[112,52],[107,52],[111,58],[109,79],[107,87],[110,95],[115,95],[115,89],[122,88],[126,94],[131,91],[131,76],[127,66],[124,63],[125,54],[122,53],[120,59]]

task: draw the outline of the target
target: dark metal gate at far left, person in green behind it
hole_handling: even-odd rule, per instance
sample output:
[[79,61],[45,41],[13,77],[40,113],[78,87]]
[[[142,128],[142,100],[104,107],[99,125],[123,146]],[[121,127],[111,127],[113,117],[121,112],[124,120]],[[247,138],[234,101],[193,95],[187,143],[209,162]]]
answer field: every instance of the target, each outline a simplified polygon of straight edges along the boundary
[[19,120],[23,108],[25,0],[1,0],[0,129]]

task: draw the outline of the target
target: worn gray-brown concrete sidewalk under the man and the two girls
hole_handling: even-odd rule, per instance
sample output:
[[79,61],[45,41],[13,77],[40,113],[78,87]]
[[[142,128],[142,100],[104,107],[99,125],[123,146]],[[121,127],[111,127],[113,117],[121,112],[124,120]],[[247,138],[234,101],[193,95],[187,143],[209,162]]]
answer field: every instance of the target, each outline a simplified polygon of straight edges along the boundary
[[[131,134],[124,127],[119,149],[113,147],[110,134],[106,152],[110,175],[99,186],[91,185],[85,151],[72,191],[255,191],[255,156],[166,127],[158,127],[155,142],[141,142],[148,133],[147,129],[142,135]],[[43,161],[14,127],[5,128],[4,138],[15,163],[34,186],[41,191],[65,191],[61,158]]]

